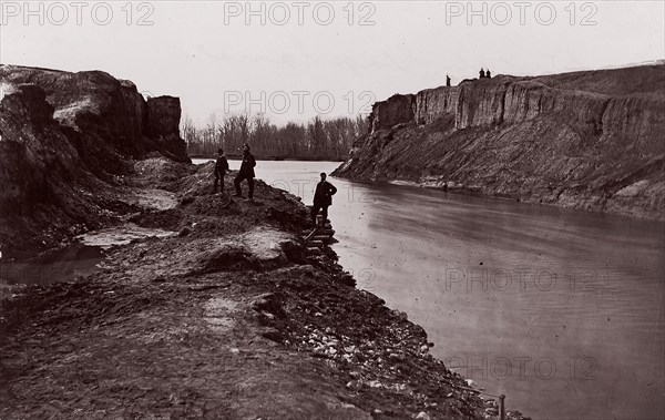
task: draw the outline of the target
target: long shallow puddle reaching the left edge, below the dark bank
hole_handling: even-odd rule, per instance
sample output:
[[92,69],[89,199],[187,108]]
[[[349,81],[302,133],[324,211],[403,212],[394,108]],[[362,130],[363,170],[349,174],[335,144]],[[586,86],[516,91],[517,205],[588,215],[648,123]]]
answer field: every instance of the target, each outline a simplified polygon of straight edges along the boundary
[[175,234],[134,224],[90,232],[76,237],[78,242],[74,244],[49,250],[25,262],[6,263],[0,259],[0,284],[44,286],[57,281],[72,281],[98,272],[100,263],[106,258],[106,252],[113,246]]

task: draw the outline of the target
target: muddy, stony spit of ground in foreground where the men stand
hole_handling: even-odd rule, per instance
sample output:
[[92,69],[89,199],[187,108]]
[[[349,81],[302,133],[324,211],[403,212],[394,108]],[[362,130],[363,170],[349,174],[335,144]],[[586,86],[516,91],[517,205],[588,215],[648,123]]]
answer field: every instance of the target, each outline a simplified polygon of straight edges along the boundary
[[213,195],[211,174],[136,163],[116,224],[173,235],[3,289],[0,419],[497,418],[406,314],[306,254],[296,197],[258,182],[231,198],[233,174]]

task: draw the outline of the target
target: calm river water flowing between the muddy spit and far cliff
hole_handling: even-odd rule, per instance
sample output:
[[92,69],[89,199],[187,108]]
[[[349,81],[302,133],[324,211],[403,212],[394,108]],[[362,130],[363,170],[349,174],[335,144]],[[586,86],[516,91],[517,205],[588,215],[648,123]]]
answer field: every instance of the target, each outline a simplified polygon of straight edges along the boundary
[[[338,165],[258,162],[256,173],[310,204],[318,173]],[[665,224],[330,181],[340,264],[508,409],[665,418]]]

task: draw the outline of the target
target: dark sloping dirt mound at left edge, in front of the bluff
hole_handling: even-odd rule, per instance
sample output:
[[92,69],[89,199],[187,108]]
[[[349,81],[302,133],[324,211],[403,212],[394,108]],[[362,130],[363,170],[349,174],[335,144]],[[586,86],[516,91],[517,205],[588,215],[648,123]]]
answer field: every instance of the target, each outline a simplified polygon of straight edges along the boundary
[[112,187],[85,171],[52,114],[44,92],[33,85],[12,88],[0,102],[0,247],[6,258],[52,248],[110,219],[104,208],[113,206]]

